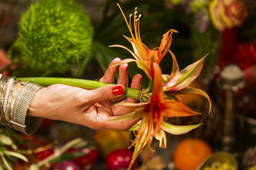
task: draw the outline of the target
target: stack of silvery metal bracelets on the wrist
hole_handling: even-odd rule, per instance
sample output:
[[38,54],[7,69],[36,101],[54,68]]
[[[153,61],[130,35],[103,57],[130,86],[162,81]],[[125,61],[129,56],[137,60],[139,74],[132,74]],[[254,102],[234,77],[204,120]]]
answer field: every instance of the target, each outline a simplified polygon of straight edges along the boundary
[[42,118],[28,117],[29,103],[41,87],[30,81],[19,81],[0,74],[0,124],[32,134],[39,127]]

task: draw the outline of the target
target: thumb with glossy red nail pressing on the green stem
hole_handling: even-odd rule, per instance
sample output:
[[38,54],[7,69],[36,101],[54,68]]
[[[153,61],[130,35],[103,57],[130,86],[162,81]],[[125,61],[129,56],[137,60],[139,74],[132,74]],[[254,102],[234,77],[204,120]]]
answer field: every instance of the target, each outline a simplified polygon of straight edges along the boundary
[[100,101],[110,101],[117,97],[123,96],[125,88],[122,85],[107,85],[99,89],[89,90],[90,103],[97,103]]

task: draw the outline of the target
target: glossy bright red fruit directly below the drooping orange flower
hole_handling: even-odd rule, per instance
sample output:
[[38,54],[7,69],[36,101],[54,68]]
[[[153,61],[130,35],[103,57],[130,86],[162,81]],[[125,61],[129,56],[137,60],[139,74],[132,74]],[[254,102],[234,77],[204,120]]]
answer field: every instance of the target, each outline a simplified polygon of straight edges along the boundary
[[[132,150],[115,150],[106,157],[106,166],[108,170],[127,169],[132,160]],[[133,164],[132,168],[136,162]]]

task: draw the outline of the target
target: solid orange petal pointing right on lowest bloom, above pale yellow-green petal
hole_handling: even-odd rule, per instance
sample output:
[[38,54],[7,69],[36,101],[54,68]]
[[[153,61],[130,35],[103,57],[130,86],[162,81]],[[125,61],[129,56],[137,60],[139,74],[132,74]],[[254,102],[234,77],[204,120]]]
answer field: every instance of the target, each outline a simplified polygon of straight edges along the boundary
[[177,101],[163,99],[161,103],[166,107],[166,109],[162,110],[163,115],[166,117],[189,117],[193,115],[201,115],[201,113],[193,111]]

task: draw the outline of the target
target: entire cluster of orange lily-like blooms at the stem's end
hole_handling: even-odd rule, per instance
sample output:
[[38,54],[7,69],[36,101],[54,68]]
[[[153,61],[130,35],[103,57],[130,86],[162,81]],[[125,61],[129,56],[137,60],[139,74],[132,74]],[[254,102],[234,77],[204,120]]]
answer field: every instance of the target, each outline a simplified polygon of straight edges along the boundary
[[[119,4],[118,7],[120,8]],[[121,8],[120,10],[124,15],[124,12]],[[129,169],[131,169],[134,160],[138,157],[143,148],[146,148],[146,157],[148,153],[151,153],[153,151],[150,146],[153,138],[159,140],[159,147],[166,148],[165,132],[169,132],[170,134],[184,134],[201,125],[196,124],[182,126],[172,125],[166,122],[168,118],[171,117],[189,117],[201,114],[191,110],[190,108],[182,104],[182,100],[180,97],[181,95],[198,94],[204,96],[209,101],[209,111],[211,110],[211,100],[209,96],[203,90],[189,87],[192,81],[195,80],[195,78],[197,78],[200,74],[206,55],[205,57],[189,65],[182,71],[179,71],[179,65],[177,64],[175,55],[169,50],[172,43],[172,34],[173,32],[177,31],[175,31],[174,29],[170,29],[163,35],[163,39],[161,40],[161,44],[158,50],[149,50],[147,46],[145,46],[141,42],[139,29],[141,15],[137,17],[136,10],[137,8],[135,8],[134,12],[134,34],[131,29],[132,15],[130,15],[129,17],[129,23],[127,22],[124,15],[125,22],[129,28],[129,31],[131,32],[132,37],[127,38],[125,36],[125,38],[132,44],[134,52],[122,45],[112,45],[125,48],[135,58],[122,60],[115,66],[128,62],[136,62],[138,67],[143,69],[150,81],[153,82],[152,93],[145,94],[151,90],[151,88],[149,88],[147,92],[144,91],[142,94],[150,96],[149,101],[145,103],[118,103],[117,105],[127,107],[132,112],[128,113],[127,115],[109,119],[109,121],[125,121],[132,119],[139,120],[136,125],[132,126],[131,129],[129,129],[130,131],[135,131],[136,134],[136,138],[131,144],[131,146],[134,146],[134,153],[132,155],[132,161]],[[164,84],[163,75],[159,63],[167,52],[170,52],[172,56],[173,66],[172,73],[170,74],[170,76],[168,76],[168,80]],[[175,96],[177,100],[175,100],[175,97],[170,96]]]

